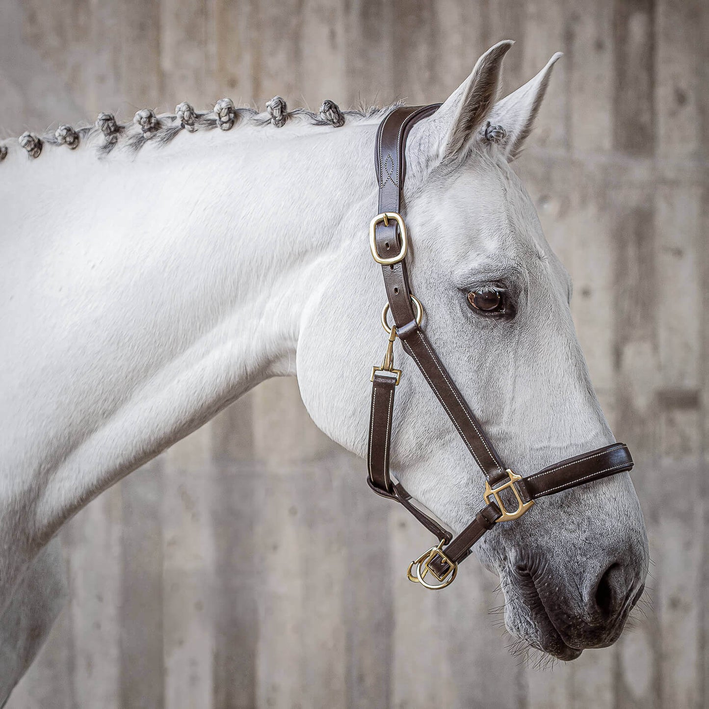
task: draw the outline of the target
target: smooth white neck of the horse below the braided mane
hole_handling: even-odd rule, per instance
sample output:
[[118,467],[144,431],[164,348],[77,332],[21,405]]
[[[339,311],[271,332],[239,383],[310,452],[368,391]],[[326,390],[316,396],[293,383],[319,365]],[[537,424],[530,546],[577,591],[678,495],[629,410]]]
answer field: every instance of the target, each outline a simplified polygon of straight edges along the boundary
[[372,201],[374,130],[245,126],[138,155],[9,155],[0,466],[40,491],[51,527],[257,382],[294,373],[320,268],[353,203]]

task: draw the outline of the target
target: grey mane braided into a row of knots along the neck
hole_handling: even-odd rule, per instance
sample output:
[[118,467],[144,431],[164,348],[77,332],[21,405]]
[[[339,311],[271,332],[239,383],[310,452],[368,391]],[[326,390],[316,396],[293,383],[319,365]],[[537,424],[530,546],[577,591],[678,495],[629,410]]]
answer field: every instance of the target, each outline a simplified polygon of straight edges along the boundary
[[[330,126],[340,128],[347,121],[369,121],[386,116],[394,108],[402,106],[403,101],[393,101],[386,106],[360,106],[348,111],[340,108],[329,99],[323,102],[318,113],[307,108],[294,108],[289,111],[281,96],[274,96],[267,103],[263,113],[247,106],[235,108],[230,99],[220,99],[210,111],[195,111],[186,102],[179,104],[175,113],[156,115],[150,108],[143,108],[135,114],[130,123],[118,123],[112,113],[100,113],[93,125],[79,125],[77,128],[67,124],[60,125],[55,131],[43,134],[25,133],[20,138],[0,140],[0,163],[9,152],[9,148],[22,147],[28,157],[40,157],[42,145],[52,147],[68,146],[71,150],[79,150],[83,143],[94,140],[99,157],[111,153],[121,145],[133,154],[138,153],[146,143],[167,145],[178,133],[186,130],[189,133],[199,130],[230,130],[238,125],[284,126],[292,118],[300,118],[315,126]],[[18,143],[19,141],[19,143]],[[34,148],[34,150],[33,150]]]

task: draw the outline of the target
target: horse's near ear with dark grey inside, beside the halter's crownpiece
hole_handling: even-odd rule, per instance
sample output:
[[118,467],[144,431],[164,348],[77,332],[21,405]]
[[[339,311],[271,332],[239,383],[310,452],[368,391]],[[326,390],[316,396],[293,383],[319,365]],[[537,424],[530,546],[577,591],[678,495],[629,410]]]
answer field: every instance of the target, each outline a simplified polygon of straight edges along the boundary
[[451,160],[469,147],[497,99],[502,59],[513,44],[503,40],[487,50],[470,76],[427,121],[427,138],[440,160]]

